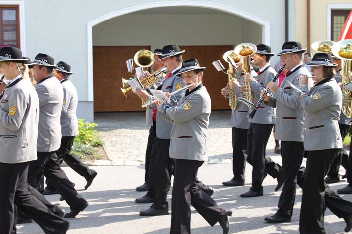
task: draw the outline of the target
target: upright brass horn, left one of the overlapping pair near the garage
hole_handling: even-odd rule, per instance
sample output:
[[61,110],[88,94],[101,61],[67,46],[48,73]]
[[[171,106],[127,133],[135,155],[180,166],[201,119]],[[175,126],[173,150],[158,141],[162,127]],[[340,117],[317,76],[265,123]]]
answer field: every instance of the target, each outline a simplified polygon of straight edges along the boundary
[[236,75],[235,75],[236,67],[234,67],[232,65],[232,63],[229,61],[228,57],[232,58],[235,63],[241,62],[241,58],[233,50],[229,50],[229,51],[225,52],[222,56],[222,58],[229,64],[229,68],[227,70],[228,83],[229,83],[228,99],[229,99],[229,106],[230,106],[231,110],[235,110],[236,105],[237,105],[237,96],[236,96],[236,94],[234,94],[231,84],[232,84],[232,81],[236,77]]

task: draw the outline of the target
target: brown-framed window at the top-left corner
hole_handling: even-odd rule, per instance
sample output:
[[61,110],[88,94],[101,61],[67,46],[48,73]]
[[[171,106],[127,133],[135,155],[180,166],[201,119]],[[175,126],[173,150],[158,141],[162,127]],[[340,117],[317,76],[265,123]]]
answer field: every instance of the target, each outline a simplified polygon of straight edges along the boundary
[[20,48],[19,7],[0,5],[0,48]]

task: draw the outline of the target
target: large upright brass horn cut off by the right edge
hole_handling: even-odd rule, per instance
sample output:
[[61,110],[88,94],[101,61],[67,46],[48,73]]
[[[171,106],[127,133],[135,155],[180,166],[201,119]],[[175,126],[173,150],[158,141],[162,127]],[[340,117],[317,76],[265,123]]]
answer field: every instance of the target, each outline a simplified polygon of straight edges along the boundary
[[[342,60],[341,78],[342,85],[352,81],[352,40],[341,40],[332,46],[332,54]],[[352,92],[342,89],[342,112],[352,117]]]

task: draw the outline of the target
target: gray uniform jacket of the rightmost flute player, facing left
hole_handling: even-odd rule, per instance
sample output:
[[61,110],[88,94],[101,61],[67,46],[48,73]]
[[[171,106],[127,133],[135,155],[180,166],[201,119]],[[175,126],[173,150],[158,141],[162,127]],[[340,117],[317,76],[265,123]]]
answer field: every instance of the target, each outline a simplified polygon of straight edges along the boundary
[[342,92],[334,78],[326,78],[313,88],[302,86],[309,95],[302,97],[305,150],[341,149],[342,137],[338,121]]

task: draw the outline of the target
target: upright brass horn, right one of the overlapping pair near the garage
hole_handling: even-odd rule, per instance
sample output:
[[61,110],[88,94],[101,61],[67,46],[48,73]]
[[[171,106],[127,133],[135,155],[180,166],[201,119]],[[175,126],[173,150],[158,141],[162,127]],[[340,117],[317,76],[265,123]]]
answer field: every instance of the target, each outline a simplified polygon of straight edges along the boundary
[[[242,43],[239,44],[238,46],[235,47],[234,49],[235,53],[240,55],[242,58],[242,70],[244,71],[244,76],[247,75],[247,73],[250,73],[250,67],[251,67],[251,56],[257,51],[257,46],[252,43]],[[247,99],[249,102],[253,103],[253,92],[252,88],[250,87],[250,84],[245,81],[245,88],[241,90],[245,90],[244,92],[242,91],[242,97]]]

